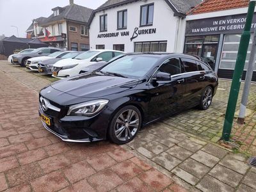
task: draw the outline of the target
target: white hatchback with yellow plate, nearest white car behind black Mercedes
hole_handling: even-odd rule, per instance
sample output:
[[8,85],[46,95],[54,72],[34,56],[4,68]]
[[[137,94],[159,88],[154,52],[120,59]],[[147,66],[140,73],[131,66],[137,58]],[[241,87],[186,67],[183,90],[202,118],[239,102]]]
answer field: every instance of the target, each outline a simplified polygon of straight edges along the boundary
[[99,61],[109,61],[120,54],[122,51],[95,49],[79,54],[74,59],[61,60],[55,63],[52,67],[52,77],[63,79],[79,74],[83,67],[95,64]]

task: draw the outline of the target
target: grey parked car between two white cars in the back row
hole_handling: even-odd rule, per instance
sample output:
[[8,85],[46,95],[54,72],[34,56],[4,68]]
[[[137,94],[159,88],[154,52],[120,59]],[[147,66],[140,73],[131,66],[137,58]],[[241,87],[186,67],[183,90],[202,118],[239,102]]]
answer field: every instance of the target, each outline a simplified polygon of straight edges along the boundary
[[52,75],[52,66],[54,65],[54,63],[68,58],[75,58],[77,55],[82,54],[83,52],[84,51],[69,51],[68,54],[65,54],[61,57],[41,61],[38,63],[38,72],[42,74]]

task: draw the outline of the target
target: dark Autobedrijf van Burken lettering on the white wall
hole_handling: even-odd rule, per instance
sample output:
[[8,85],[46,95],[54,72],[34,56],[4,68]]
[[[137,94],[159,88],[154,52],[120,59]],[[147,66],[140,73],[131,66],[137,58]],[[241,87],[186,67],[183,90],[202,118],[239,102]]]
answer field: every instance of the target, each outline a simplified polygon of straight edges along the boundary
[[[152,34],[152,33],[156,33],[156,28],[152,28],[152,29],[139,29],[139,28],[135,28],[132,36],[131,36],[131,41],[134,40],[134,38],[137,38],[139,35],[146,35],[146,34]],[[129,36],[130,35],[130,31],[122,31],[122,32],[116,32],[116,33],[103,33],[103,34],[99,34],[98,38],[108,38],[108,37],[116,37],[116,36]]]

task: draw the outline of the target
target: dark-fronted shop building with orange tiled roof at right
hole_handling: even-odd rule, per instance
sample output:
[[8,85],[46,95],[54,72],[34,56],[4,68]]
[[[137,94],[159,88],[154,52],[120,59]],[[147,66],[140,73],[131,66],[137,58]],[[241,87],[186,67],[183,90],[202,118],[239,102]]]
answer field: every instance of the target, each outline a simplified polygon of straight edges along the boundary
[[[196,54],[206,60],[221,78],[231,79],[248,11],[248,0],[208,0],[188,12],[184,52]],[[252,33],[256,27],[253,17]],[[243,79],[246,75],[252,37],[247,52]],[[256,81],[254,65],[253,81]]]

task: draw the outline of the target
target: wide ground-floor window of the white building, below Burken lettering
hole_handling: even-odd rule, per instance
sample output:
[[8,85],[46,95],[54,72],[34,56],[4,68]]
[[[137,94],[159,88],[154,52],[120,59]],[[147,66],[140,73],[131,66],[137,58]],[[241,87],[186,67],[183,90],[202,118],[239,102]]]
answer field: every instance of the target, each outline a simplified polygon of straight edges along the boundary
[[166,52],[167,42],[136,42],[134,52]]

